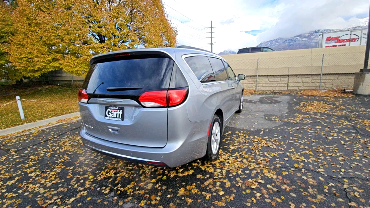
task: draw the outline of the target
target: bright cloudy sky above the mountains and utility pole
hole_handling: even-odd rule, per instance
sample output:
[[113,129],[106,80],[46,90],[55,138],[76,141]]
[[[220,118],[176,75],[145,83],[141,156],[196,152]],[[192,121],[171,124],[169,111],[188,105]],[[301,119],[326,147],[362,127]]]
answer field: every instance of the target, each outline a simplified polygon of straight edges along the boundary
[[359,25],[368,17],[369,0],[162,0],[178,30],[178,44],[211,50],[238,51],[277,37],[316,29]]

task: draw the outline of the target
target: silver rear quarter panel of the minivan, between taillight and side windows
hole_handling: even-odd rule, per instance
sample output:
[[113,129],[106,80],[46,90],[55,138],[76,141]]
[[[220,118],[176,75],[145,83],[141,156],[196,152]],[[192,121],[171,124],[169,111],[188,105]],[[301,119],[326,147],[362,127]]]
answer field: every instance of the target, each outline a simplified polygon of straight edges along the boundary
[[210,120],[218,108],[224,111],[221,105],[219,85],[217,83],[202,84],[182,56],[176,55],[176,63],[189,84],[189,95],[186,101],[189,120],[192,122]]

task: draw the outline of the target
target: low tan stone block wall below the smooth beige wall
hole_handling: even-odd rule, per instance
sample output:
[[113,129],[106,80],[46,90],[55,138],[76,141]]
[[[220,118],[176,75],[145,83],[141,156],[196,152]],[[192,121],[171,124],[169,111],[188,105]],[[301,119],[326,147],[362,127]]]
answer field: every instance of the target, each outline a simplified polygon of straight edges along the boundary
[[[244,88],[256,89],[256,76],[242,81]],[[323,74],[321,89],[353,88],[354,74]],[[319,90],[320,74],[258,76],[257,90]]]

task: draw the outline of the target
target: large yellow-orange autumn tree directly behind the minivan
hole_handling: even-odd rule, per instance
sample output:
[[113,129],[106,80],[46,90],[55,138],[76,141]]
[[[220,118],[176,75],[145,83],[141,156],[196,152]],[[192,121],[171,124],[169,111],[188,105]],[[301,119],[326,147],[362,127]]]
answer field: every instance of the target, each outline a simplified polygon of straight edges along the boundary
[[62,69],[84,76],[91,56],[171,47],[176,30],[161,0],[18,0],[10,61],[25,76]]

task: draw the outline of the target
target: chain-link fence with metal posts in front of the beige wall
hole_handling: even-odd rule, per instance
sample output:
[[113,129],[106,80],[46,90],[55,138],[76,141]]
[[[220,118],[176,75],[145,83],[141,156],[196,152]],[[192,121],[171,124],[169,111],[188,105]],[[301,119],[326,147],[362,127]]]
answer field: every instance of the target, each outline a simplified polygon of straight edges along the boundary
[[[226,60],[236,74],[246,75],[246,79],[242,81],[246,89],[348,89],[353,88],[354,73],[363,67],[365,52],[294,56],[294,51],[289,51],[283,55],[284,57],[239,59],[239,54],[236,54],[232,60]],[[240,57],[245,57],[245,54]]]

